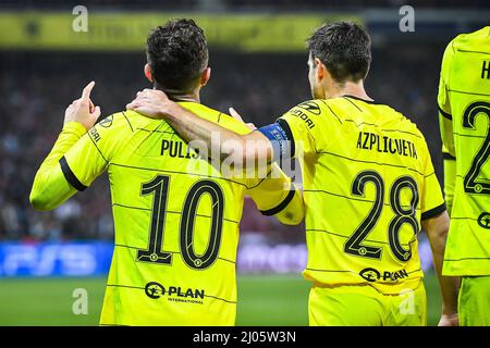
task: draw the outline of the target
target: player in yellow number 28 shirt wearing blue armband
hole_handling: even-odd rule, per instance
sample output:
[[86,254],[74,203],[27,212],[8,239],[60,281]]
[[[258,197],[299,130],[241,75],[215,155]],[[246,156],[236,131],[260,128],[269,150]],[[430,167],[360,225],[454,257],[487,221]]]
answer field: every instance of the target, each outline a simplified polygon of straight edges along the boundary
[[[299,158],[311,325],[425,325],[421,227],[442,287],[440,324],[455,324],[457,289],[441,277],[449,217],[422,134],[367,96],[370,39],[358,25],[323,25],[308,49],[315,99],[258,132],[237,135],[198,120],[155,90],[128,108],[163,117],[184,139],[203,139],[222,158]],[[236,142],[241,151],[230,147]]]

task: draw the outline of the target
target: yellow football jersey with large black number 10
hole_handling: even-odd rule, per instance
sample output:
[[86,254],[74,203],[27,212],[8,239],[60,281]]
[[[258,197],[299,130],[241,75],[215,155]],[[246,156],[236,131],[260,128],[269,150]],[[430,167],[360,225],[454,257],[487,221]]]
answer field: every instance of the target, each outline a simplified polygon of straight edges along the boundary
[[[203,104],[181,104],[234,132],[249,132]],[[115,248],[101,325],[234,325],[244,196],[265,214],[301,198],[284,174],[224,177],[164,121],[133,111],[98,123],[60,163],[77,189],[109,173]]]

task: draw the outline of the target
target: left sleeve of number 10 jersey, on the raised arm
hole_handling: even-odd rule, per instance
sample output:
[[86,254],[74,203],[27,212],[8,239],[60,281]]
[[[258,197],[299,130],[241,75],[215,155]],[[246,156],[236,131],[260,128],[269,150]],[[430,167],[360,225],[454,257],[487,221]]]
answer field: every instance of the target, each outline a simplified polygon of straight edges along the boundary
[[127,136],[118,121],[115,114],[97,123],[60,159],[64,177],[77,190],[90,186],[107,170],[122,139]]

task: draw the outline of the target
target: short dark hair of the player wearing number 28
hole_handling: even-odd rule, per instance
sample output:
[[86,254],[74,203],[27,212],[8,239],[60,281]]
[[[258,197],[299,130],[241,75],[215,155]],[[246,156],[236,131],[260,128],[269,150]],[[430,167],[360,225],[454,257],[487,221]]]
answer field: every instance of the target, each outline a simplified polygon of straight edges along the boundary
[[357,24],[323,24],[307,40],[307,47],[336,82],[366,78],[371,64],[371,40]]

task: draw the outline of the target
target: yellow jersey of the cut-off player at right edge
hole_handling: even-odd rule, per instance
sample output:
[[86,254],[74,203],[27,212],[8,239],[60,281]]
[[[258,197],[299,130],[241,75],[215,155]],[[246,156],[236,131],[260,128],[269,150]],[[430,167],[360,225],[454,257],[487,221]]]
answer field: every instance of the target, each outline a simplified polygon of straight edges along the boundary
[[[455,157],[444,275],[490,274],[490,26],[453,39],[444,51],[439,120]],[[451,192],[451,187],[445,188]]]

